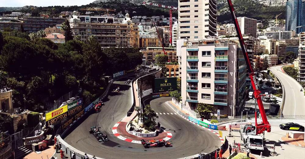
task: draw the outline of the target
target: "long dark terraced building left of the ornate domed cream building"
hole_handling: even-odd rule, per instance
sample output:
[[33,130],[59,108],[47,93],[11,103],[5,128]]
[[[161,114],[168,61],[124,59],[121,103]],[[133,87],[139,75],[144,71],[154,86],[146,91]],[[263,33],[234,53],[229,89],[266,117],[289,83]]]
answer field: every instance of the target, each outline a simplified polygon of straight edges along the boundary
[[23,29],[27,33],[36,33],[45,28],[61,25],[66,21],[65,18],[45,18],[45,17],[22,17]]

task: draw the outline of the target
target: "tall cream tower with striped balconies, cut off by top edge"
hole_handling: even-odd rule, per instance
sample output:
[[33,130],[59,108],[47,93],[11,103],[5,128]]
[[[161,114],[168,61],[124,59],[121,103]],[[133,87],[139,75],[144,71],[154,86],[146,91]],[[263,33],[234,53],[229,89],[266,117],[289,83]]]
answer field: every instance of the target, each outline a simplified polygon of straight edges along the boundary
[[217,0],[178,0],[178,39],[215,36]]

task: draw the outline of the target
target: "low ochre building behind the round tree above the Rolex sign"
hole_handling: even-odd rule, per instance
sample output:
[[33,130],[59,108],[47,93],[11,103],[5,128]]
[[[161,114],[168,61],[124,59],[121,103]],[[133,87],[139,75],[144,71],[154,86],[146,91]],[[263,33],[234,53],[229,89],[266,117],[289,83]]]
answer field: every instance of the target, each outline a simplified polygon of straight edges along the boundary
[[[164,47],[164,50],[167,53],[170,62],[178,61],[176,48]],[[146,47],[146,49],[140,50],[140,52],[143,53],[144,63],[154,63],[156,55],[164,54],[162,47]]]

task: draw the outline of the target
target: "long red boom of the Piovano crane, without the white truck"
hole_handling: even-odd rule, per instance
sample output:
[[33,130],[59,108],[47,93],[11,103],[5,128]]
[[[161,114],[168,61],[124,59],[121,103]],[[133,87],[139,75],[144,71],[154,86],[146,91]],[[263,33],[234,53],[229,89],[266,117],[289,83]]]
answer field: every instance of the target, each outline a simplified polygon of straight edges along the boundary
[[232,1],[231,0],[227,0],[227,1],[228,1],[231,16],[232,16],[232,19],[233,19],[233,22],[234,22],[234,25],[235,25],[235,29],[236,29],[236,32],[237,32],[237,36],[238,36],[238,39],[239,39],[239,43],[240,43],[240,46],[242,48],[242,53],[243,53],[243,55],[245,57],[245,60],[246,60],[246,65],[247,65],[247,70],[248,70],[248,73],[249,73],[249,78],[251,80],[251,85],[252,85],[252,88],[254,90],[253,95],[254,95],[254,98],[257,100],[257,105],[258,105],[258,108],[260,109],[261,118],[263,120],[263,122],[261,124],[257,124],[257,120],[256,120],[257,119],[257,112],[255,112],[255,126],[256,126],[256,130],[257,130],[257,134],[261,134],[265,130],[267,130],[267,132],[271,132],[271,125],[269,124],[269,122],[267,120],[264,105],[263,105],[261,95],[260,95],[260,90],[259,90],[258,85],[257,85],[257,79],[256,79],[256,76],[254,74],[254,71],[253,71],[253,68],[252,68],[252,65],[251,65],[251,62],[250,62],[250,59],[249,59],[249,55],[248,55],[248,52],[247,52],[247,49],[246,49],[246,44],[245,44],[245,42],[242,38],[242,33],[240,31],[240,28],[239,28],[239,24],[238,24],[238,21],[237,21],[237,18],[236,18],[236,14],[235,14],[235,10],[234,10]]

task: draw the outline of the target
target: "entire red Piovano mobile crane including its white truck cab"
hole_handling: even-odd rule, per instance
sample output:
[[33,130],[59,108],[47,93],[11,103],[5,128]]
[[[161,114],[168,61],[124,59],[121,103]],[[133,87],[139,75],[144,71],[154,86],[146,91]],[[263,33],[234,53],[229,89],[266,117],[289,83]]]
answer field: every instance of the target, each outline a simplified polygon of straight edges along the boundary
[[[255,111],[255,126],[253,126],[252,124],[251,125],[250,124],[245,125],[243,130],[241,130],[242,131],[241,139],[243,140],[244,143],[248,144],[248,147],[250,149],[264,150],[263,137],[257,136],[257,135],[261,134],[261,133],[264,133],[264,131],[271,132],[271,125],[269,124],[269,122],[267,120],[264,105],[263,105],[263,102],[262,102],[262,99],[261,99],[262,95],[260,94],[261,92],[260,92],[259,87],[257,85],[258,81],[256,79],[256,76],[254,74],[254,71],[253,71],[253,68],[252,68],[252,65],[251,65],[251,62],[250,62],[250,59],[249,59],[249,55],[248,55],[248,52],[247,52],[247,49],[246,49],[246,44],[245,44],[245,42],[242,38],[242,33],[240,31],[240,28],[239,28],[239,24],[238,24],[238,21],[237,21],[237,18],[236,18],[236,14],[235,14],[235,10],[234,10],[232,1],[227,0],[227,2],[228,2],[229,9],[230,9],[230,12],[231,12],[232,20],[233,20],[234,25],[235,25],[235,29],[236,29],[236,32],[237,32],[239,43],[240,43],[240,46],[242,48],[242,53],[243,53],[243,55],[245,57],[245,60],[246,60],[247,71],[248,71],[248,74],[249,74],[249,78],[251,80],[252,88],[254,90],[253,95],[254,95],[254,98],[257,101],[258,108],[260,109],[260,115],[261,115],[261,118],[263,120],[262,123],[257,124],[257,112]],[[258,142],[256,142],[256,141],[258,141]]]

